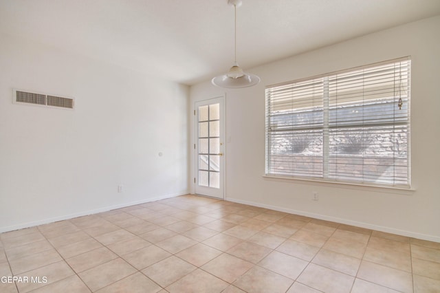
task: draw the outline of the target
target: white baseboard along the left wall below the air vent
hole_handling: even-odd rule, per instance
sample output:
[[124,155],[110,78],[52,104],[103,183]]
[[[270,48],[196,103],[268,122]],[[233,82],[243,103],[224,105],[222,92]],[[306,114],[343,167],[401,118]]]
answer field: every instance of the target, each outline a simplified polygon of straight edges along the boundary
[[74,219],[76,217],[83,217],[83,216],[87,216],[87,215],[94,215],[94,214],[98,214],[98,213],[104,213],[104,212],[107,212],[109,210],[115,210],[116,208],[126,208],[127,206],[135,206],[137,204],[146,204],[147,202],[155,202],[155,201],[161,200],[161,199],[167,199],[167,198],[171,198],[171,197],[178,197],[180,195],[187,195],[188,193],[189,192],[186,191],[184,193],[175,193],[175,194],[171,194],[171,195],[162,195],[162,196],[159,196],[159,197],[153,197],[153,198],[148,198],[148,199],[141,199],[141,200],[138,200],[138,201],[135,201],[135,202],[126,202],[124,204],[116,204],[114,206],[105,206],[103,208],[96,208],[94,210],[85,210],[83,212],[74,213],[74,214],[70,214],[70,215],[63,215],[63,216],[60,216],[60,217],[41,219],[41,220],[38,220],[38,221],[30,221],[28,223],[22,223],[22,224],[18,224],[18,225],[14,225],[14,226],[0,227],[0,233],[14,231],[14,230],[19,230],[19,229],[23,229],[23,228],[30,228],[30,227],[44,225],[44,224],[50,224],[50,223],[54,223],[56,221],[63,221],[63,220],[66,220],[66,219]]

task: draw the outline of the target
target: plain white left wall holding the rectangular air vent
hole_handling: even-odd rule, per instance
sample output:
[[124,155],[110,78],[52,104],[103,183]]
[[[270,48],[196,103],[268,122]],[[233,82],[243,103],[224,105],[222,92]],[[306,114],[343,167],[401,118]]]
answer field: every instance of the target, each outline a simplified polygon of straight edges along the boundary
[[[76,107],[12,104],[12,88]],[[188,91],[1,35],[0,232],[188,193]]]

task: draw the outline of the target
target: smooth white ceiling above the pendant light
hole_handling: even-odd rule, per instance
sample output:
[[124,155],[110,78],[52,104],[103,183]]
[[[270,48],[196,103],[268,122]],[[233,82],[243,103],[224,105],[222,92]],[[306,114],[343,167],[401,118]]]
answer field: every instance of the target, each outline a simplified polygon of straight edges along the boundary
[[[232,66],[227,2],[1,0],[0,32],[193,85]],[[438,14],[439,0],[243,0],[237,61],[248,69]]]

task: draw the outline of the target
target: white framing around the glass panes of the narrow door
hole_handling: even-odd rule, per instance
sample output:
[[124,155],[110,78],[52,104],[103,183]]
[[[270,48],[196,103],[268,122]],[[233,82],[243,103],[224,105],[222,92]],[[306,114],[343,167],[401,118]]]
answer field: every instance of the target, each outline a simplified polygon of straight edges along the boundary
[[[219,192],[212,192],[214,188],[206,187],[206,186],[198,186],[198,177],[199,177],[199,154],[198,150],[198,139],[199,139],[199,124],[198,124],[198,107],[203,105],[210,105],[219,103],[220,105],[220,153],[223,155],[220,156],[220,186]],[[225,199],[225,166],[226,166],[226,144],[225,144],[225,96],[217,96],[215,98],[208,98],[206,100],[197,100],[194,102],[194,147],[193,147],[193,162],[194,162],[194,193],[198,195],[215,197],[218,199]]]

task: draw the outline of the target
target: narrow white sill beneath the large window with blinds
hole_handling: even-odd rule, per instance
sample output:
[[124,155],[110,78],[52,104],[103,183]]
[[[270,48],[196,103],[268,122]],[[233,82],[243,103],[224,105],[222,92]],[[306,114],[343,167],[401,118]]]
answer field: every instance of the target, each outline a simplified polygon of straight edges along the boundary
[[414,188],[405,188],[405,187],[397,187],[397,186],[355,184],[355,183],[348,183],[348,182],[314,180],[314,179],[305,179],[305,178],[298,178],[298,177],[282,177],[282,176],[274,176],[274,175],[263,175],[263,179],[270,180],[270,181],[278,181],[278,182],[291,182],[291,183],[298,183],[298,184],[309,184],[309,185],[330,186],[330,187],[338,187],[338,188],[349,188],[349,189],[355,189],[355,190],[373,191],[373,192],[380,192],[380,193],[396,193],[399,195],[412,195],[413,193],[415,193]]

